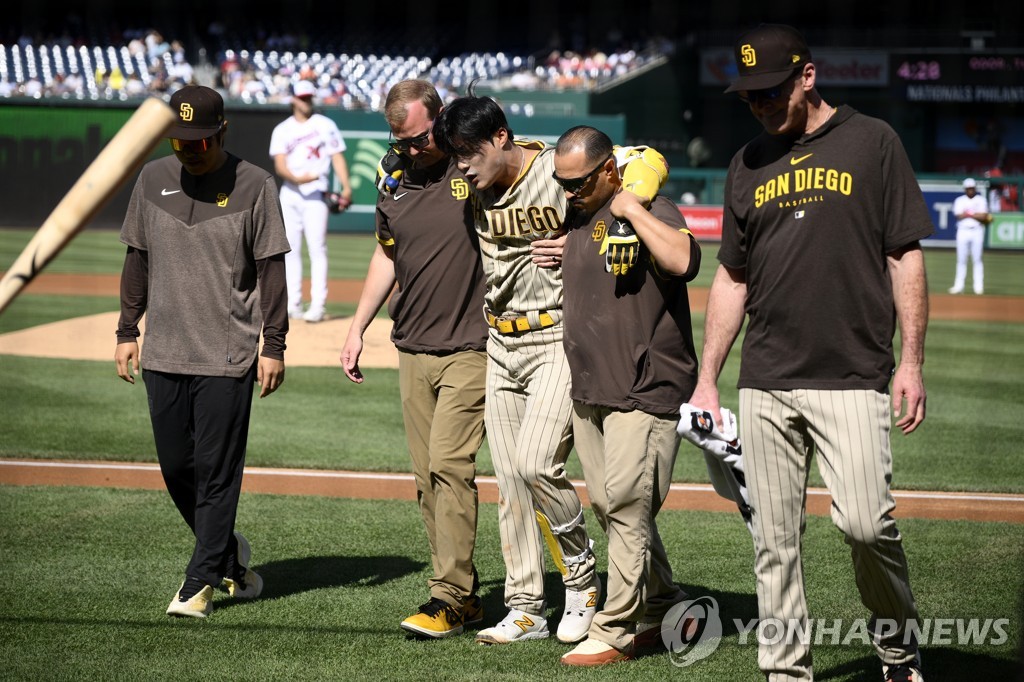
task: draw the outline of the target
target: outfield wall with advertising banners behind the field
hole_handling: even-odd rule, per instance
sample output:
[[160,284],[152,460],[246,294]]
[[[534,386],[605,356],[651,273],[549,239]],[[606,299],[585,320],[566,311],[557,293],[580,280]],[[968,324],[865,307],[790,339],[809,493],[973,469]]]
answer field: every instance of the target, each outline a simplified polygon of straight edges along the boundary
[[[0,104],[0,226],[41,225],[82,172],[99,154],[134,112],[128,104],[99,105],[93,102],[13,100]],[[228,103],[227,148],[233,154],[273,172],[267,146],[273,127],[290,115],[287,105],[246,105]],[[372,231],[374,186],[377,161],[387,145],[388,131],[381,114],[323,112],[341,128],[348,148],[354,203],[342,215],[332,215],[330,229],[336,232]],[[509,116],[517,135],[554,141],[567,128],[587,124],[604,130],[615,141],[625,140],[626,116]],[[161,143],[152,158],[170,154]],[[1019,181],[1017,178],[1006,178]],[[980,180],[980,178],[979,178]],[[121,225],[134,178],[90,223],[92,227]],[[984,188],[983,181],[979,184]],[[721,238],[721,205],[725,188],[724,169],[673,168],[664,194],[680,204],[687,200],[697,206],[683,206],[687,220],[703,240]],[[952,246],[955,225],[950,216],[952,200],[961,193],[961,178],[929,176],[922,189],[936,225],[928,243]],[[1000,216],[988,235],[989,248],[1024,249],[1024,214]]]

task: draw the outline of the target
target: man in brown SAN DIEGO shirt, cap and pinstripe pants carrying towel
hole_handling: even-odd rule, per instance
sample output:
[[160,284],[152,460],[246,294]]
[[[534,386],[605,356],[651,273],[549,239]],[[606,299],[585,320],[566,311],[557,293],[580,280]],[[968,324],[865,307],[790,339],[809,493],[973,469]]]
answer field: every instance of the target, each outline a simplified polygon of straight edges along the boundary
[[[925,419],[928,287],[920,240],[932,233],[932,221],[895,132],[824,101],[796,29],[762,25],[739,38],[735,54],[738,78],[728,91],[739,93],[764,132],[729,165],[721,264],[688,401],[718,415],[718,376],[745,312],[739,430],[760,621],[807,632],[801,542],[816,456],[871,614],[883,675],[921,682],[907,627],[918,607],[892,517],[890,431],[893,416],[903,433]],[[765,634],[758,664],[769,680],[813,678],[808,641]]]

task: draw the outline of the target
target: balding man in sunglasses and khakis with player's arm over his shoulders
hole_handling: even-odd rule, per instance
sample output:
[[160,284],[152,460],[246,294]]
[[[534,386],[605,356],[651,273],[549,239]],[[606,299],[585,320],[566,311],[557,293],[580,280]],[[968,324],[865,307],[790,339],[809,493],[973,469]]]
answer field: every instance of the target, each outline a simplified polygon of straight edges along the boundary
[[[686,598],[654,517],[679,451],[678,406],[696,383],[686,282],[700,249],[671,201],[657,198],[648,210],[621,190],[625,178],[601,131],[566,131],[554,166],[573,209],[562,264],[572,432],[591,507],[608,534],[607,597],[587,639],[561,660],[597,666],[659,641],[666,613]],[[624,220],[628,230],[612,229]],[[624,233],[637,238],[636,258],[615,262],[609,235]]]

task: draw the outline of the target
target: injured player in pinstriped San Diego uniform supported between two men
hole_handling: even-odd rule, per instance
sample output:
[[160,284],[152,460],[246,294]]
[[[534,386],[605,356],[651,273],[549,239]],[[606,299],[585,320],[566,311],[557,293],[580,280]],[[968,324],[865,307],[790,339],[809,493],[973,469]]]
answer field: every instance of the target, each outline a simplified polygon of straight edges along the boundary
[[572,447],[571,406],[562,346],[562,244],[554,238],[561,235],[566,202],[552,179],[554,150],[515,140],[501,106],[472,89],[441,111],[433,136],[473,189],[487,284],[484,424],[500,493],[509,613],[480,631],[477,641],[549,636],[543,537],[566,588],[558,639],[579,642],[596,613],[601,585],[583,507],[564,470]]

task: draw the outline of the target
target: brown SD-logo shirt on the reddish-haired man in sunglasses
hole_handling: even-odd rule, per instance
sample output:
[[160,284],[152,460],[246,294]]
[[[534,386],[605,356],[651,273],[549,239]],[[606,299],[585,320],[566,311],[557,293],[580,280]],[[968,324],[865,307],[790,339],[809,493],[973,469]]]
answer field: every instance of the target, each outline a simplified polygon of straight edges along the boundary
[[483,350],[483,266],[469,183],[454,161],[411,168],[377,200],[377,240],[393,247],[391,340],[410,352]]

